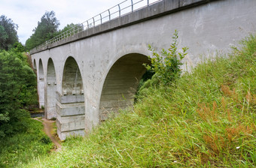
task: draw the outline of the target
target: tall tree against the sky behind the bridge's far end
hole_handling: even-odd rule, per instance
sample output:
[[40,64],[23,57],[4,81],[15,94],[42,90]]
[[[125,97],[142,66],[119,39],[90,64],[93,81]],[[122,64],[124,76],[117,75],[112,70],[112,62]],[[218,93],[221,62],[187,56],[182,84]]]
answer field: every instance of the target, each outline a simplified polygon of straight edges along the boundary
[[38,26],[33,30],[32,36],[26,40],[26,49],[32,49],[54,37],[58,27],[59,20],[56,19],[54,11],[46,11],[41,17],[41,22],[38,22]]

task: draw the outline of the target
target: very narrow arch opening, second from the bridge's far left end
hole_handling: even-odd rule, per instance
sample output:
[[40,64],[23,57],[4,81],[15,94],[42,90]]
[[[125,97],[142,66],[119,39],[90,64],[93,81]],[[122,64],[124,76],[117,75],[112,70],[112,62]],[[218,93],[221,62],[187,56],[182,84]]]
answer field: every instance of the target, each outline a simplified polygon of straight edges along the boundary
[[44,68],[41,58],[39,59],[38,67],[38,99],[39,108],[44,108]]

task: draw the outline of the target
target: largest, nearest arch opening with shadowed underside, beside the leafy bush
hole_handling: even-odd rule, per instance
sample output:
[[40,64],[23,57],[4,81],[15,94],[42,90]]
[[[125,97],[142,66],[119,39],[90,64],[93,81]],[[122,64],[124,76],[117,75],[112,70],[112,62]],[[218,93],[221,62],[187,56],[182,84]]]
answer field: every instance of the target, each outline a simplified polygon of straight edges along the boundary
[[148,57],[139,53],[124,55],[108,71],[99,103],[99,121],[108,114],[133,106],[139,81],[145,74]]

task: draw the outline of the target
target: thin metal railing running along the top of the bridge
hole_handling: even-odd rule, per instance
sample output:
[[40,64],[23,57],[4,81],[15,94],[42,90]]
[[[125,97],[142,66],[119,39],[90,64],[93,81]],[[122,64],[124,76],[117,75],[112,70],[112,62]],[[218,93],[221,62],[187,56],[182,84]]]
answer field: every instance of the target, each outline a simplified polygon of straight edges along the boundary
[[[122,1],[120,4],[115,5],[114,7],[111,7],[108,10],[105,10],[102,13],[99,13],[95,17],[92,17],[89,20],[84,21],[84,23],[76,24],[72,28],[69,28],[67,31],[64,31],[61,34],[56,35],[55,37],[51,38],[50,40],[45,41],[41,45],[36,46],[32,50],[44,48],[44,46],[47,46],[51,43],[55,43],[59,40],[63,40],[66,37],[69,37],[69,36],[72,36],[74,34],[81,32],[81,31],[87,30],[88,28],[93,28],[95,26],[99,26],[102,23],[106,23],[110,20],[114,20],[117,17],[123,16],[124,14],[132,13],[135,10],[139,10],[142,7],[147,7],[147,6],[152,5],[158,1],[163,1],[163,0],[138,0],[138,1],[125,0],[125,1]],[[127,2],[128,2],[128,5],[127,5]],[[144,2],[144,4],[142,2]],[[122,7],[122,5],[125,5],[125,6]]]

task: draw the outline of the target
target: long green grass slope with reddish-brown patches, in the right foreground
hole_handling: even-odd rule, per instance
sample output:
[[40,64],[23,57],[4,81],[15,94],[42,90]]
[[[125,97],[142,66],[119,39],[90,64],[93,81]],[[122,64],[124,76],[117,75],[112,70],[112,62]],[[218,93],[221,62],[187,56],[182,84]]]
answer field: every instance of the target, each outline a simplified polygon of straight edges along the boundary
[[24,167],[255,167],[256,37]]

